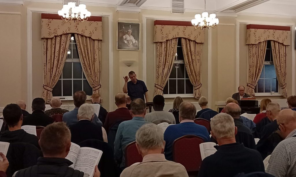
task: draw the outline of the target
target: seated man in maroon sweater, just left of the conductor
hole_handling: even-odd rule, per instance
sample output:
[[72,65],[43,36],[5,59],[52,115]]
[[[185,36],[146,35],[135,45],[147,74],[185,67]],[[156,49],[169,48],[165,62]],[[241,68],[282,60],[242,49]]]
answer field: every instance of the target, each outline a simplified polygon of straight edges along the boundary
[[107,133],[113,125],[132,119],[130,111],[126,108],[126,95],[124,93],[115,95],[115,104],[118,109],[108,112],[104,123],[104,128]]

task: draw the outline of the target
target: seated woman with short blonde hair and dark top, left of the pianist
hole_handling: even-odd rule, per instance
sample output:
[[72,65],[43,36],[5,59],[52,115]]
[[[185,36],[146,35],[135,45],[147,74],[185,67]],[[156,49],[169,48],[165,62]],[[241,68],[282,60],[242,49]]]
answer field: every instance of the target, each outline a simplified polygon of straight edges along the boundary
[[205,120],[211,121],[211,118],[218,114],[218,112],[207,107],[206,97],[200,97],[200,99],[198,100],[198,104],[200,105],[202,110],[197,112],[195,118],[203,118]]

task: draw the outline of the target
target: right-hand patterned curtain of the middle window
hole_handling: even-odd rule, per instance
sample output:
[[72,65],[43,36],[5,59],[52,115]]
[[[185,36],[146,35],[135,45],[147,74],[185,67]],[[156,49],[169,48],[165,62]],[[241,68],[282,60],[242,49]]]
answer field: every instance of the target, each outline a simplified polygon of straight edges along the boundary
[[202,44],[187,38],[181,38],[184,62],[189,80],[194,87],[194,98],[199,99],[201,96],[200,87],[200,66]]

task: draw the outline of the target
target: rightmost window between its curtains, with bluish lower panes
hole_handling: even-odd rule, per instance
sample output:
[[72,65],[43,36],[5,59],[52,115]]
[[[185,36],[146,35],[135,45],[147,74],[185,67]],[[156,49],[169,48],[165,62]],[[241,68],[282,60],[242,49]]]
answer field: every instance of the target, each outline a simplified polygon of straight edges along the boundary
[[272,58],[271,42],[267,41],[264,65],[257,86],[255,87],[255,93],[270,94],[271,92],[279,94],[279,83],[276,78],[276,71]]

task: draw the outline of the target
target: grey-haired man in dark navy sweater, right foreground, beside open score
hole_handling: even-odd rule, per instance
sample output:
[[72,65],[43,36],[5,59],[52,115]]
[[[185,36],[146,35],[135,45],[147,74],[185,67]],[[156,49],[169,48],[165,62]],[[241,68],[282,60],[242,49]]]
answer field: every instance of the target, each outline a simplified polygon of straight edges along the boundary
[[260,153],[236,142],[238,128],[234,119],[225,113],[219,113],[211,119],[211,134],[219,146],[217,152],[202,160],[198,176],[235,176],[238,173],[264,172]]

